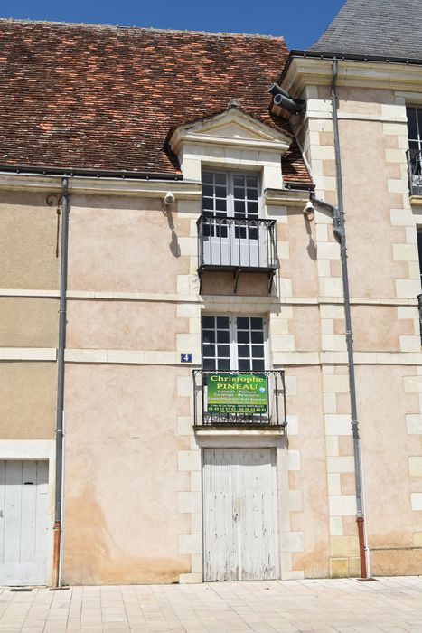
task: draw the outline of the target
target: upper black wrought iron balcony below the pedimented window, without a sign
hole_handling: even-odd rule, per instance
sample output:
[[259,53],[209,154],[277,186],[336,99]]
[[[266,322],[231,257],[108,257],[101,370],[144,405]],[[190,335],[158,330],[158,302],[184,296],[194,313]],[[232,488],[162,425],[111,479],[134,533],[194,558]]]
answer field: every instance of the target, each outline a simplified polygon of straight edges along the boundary
[[201,215],[198,227],[198,274],[232,271],[237,291],[241,272],[263,272],[268,292],[278,268],[276,220]]

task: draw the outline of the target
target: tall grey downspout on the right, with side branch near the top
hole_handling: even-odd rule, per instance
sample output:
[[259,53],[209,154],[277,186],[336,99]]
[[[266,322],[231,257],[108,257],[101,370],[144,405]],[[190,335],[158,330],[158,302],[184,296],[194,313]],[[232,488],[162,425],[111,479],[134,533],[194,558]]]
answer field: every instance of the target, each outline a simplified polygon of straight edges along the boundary
[[[340,256],[342,261],[342,287],[344,295],[344,318],[346,325],[346,345],[349,364],[349,392],[351,401],[352,438],[354,455],[354,481],[356,494],[356,523],[359,535],[359,552],[361,558],[361,578],[367,578],[367,558],[369,562],[369,550],[366,544],[366,531],[364,524],[364,506],[362,492],[362,464],[361,464],[361,438],[359,434],[358,411],[356,404],[356,381],[353,356],[351,299],[349,290],[349,273],[347,267],[346,231],[344,223],[344,203],[342,194],[342,163],[340,156],[339,122],[337,117],[337,94],[335,91],[337,82],[337,60],[333,60],[333,82],[331,86],[331,99],[333,110],[333,136],[335,155],[335,175],[337,184],[338,208],[331,204],[323,203],[333,211],[334,235],[340,241]],[[314,199],[315,200],[315,199]],[[315,200],[316,202],[316,200]],[[317,201],[322,203],[322,201]],[[369,567],[369,565],[368,565]]]

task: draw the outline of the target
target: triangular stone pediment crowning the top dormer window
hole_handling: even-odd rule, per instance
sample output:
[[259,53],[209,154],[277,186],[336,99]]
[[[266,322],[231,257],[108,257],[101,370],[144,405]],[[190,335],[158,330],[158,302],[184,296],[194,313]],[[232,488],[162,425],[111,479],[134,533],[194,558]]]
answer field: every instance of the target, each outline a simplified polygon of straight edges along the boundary
[[183,151],[183,144],[202,146],[226,146],[255,150],[276,151],[283,156],[292,139],[241,109],[231,107],[211,118],[204,118],[177,128],[170,139],[176,155]]

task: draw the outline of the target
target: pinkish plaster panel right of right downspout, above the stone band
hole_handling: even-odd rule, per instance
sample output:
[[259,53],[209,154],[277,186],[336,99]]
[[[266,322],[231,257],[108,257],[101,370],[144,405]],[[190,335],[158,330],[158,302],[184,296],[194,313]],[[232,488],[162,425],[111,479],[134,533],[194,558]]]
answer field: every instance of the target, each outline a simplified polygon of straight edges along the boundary
[[400,172],[393,176],[386,162],[389,139],[381,122],[361,120],[342,120],[340,137],[352,296],[395,297],[408,264],[393,260],[392,244],[404,242],[405,231],[390,222],[397,194],[388,181]]

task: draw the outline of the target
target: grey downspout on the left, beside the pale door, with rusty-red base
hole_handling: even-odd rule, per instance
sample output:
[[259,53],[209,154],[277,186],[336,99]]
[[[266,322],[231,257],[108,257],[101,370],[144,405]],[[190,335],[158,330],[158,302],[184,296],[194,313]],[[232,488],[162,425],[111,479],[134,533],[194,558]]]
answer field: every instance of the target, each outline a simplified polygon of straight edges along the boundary
[[61,181],[61,270],[59,345],[57,349],[56,484],[54,504],[53,586],[60,587],[61,505],[63,468],[64,349],[66,345],[66,291],[68,282],[69,194],[68,179]]

